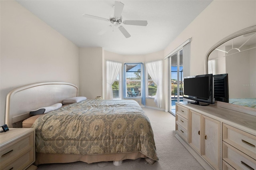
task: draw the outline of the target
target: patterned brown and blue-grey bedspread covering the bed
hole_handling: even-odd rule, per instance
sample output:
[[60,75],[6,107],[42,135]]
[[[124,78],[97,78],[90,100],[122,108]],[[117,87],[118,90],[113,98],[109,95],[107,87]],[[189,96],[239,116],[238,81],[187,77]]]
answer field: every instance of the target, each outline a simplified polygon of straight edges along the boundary
[[158,160],[150,121],[134,100],[85,100],[47,113],[36,128],[36,152],[113,154],[141,152]]

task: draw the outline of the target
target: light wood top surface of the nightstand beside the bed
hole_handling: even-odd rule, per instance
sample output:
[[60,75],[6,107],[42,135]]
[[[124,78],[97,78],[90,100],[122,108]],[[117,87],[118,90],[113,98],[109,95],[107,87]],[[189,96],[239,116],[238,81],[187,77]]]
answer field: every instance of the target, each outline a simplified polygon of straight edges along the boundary
[[9,128],[8,131],[0,133],[0,147],[33,131],[34,128]]

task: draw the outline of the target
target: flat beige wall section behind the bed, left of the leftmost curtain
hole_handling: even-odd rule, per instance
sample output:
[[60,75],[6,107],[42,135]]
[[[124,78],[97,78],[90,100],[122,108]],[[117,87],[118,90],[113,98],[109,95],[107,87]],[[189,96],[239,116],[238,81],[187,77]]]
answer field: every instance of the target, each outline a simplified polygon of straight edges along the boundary
[[102,47],[79,48],[79,95],[102,96]]

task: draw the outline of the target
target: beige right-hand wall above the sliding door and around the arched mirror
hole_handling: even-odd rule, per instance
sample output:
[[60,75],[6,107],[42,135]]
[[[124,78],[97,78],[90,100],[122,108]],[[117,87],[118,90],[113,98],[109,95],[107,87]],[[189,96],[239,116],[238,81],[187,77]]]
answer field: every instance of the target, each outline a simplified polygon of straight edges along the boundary
[[[253,25],[256,25],[255,0],[214,0],[164,49],[164,55],[167,56],[188,38],[192,38],[190,74],[204,74],[208,50],[222,38]],[[167,63],[166,59],[165,65]],[[168,67],[165,67],[165,73],[167,72]],[[165,79],[168,80],[168,74]],[[165,82],[165,91],[168,90],[167,84],[168,82]]]

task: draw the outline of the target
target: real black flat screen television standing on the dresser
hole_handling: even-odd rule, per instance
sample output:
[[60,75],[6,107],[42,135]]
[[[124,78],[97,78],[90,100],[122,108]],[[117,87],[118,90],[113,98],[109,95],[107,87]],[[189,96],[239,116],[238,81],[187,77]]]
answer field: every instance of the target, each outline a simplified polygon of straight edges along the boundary
[[[183,98],[195,105],[214,104],[214,77],[212,74],[184,77]],[[202,102],[202,103],[201,103]]]

